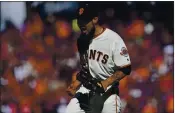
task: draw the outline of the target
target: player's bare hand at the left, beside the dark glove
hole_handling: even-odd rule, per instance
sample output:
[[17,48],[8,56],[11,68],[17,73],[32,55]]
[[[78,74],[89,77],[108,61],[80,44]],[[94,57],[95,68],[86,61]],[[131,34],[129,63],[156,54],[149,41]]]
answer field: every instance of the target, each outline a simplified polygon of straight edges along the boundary
[[78,80],[73,81],[67,88],[66,92],[68,93],[69,96],[74,96],[76,94],[76,91],[80,87],[81,82]]

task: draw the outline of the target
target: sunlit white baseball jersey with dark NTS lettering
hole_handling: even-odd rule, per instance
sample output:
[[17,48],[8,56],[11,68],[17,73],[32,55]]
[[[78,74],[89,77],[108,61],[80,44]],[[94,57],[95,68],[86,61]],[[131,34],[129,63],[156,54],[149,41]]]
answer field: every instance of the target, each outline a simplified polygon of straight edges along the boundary
[[131,63],[123,39],[107,28],[92,40],[88,55],[91,75],[102,80],[113,75],[117,68]]

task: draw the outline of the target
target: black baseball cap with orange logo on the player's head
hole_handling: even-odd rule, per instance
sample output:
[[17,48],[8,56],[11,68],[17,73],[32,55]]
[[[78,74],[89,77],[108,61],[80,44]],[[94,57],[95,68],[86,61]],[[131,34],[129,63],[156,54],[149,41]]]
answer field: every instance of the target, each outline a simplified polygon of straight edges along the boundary
[[94,3],[84,4],[80,6],[77,10],[77,20],[83,21],[83,23],[90,22],[94,17],[98,17],[99,7]]

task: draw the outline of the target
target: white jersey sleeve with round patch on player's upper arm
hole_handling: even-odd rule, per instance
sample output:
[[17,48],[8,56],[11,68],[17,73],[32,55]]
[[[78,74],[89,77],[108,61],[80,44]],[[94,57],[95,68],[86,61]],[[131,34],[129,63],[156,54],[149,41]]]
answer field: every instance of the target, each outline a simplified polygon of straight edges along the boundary
[[112,48],[113,61],[119,68],[131,65],[129,53],[124,41],[120,38],[115,41]]

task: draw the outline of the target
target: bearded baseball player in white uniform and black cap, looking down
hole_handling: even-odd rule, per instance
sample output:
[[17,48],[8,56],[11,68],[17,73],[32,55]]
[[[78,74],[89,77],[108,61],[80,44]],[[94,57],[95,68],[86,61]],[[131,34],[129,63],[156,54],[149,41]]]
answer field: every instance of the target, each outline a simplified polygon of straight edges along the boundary
[[120,113],[119,81],[131,72],[127,48],[117,33],[100,25],[95,7],[79,8],[77,20],[81,70],[67,88],[72,99],[66,113]]

